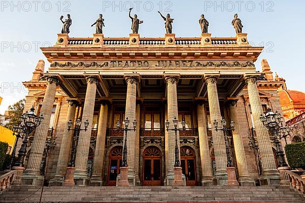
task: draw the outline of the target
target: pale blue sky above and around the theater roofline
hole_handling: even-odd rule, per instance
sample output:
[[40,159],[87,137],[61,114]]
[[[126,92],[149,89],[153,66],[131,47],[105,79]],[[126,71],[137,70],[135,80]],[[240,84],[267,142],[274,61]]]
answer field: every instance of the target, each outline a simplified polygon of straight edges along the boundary
[[[62,29],[60,16],[71,14],[70,37],[93,37],[95,27],[90,25],[100,13],[105,37],[128,37],[129,8],[144,21],[140,37],[164,37],[164,21],[157,11],[174,18],[176,37],[200,37],[201,14],[209,21],[212,37],[235,37],[231,21],[238,13],[249,42],[265,47],[255,63],[257,70],[266,58],[271,71],[286,79],[288,89],[305,91],[305,1],[0,1],[0,114],[26,96],[22,82],[31,80],[39,59],[46,61],[39,47],[55,44]],[[45,71],[49,65],[46,61]]]

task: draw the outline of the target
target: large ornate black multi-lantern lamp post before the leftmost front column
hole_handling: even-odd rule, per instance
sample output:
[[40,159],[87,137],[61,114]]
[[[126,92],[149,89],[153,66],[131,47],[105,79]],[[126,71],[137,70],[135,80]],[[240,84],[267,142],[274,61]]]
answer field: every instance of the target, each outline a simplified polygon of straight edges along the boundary
[[43,121],[43,115],[40,115],[39,117],[35,114],[34,107],[31,108],[29,112],[25,112],[22,114],[19,120],[19,127],[22,128],[22,132],[24,133],[23,141],[21,148],[19,150],[18,154],[18,160],[15,163],[14,166],[23,167],[24,166],[24,157],[26,155],[26,147],[27,147],[27,138],[29,134],[31,134],[36,127],[40,125],[40,123]]

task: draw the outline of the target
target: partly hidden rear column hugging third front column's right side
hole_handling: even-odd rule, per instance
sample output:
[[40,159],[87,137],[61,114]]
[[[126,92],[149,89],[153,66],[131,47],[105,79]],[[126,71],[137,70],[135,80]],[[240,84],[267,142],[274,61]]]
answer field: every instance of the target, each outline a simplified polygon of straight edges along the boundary
[[137,121],[137,128],[136,128],[136,141],[135,141],[135,174],[136,174],[136,184],[140,185],[140,178],[139,178],[139,150],[140,150],[140,107],[141,101],[137,100],[136,106],[136,121]]

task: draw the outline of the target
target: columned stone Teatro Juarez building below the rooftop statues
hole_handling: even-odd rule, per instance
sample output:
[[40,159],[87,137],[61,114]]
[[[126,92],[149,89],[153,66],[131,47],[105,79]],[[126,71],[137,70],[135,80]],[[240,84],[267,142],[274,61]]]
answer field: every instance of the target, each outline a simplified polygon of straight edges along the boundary
[[[227,184],[227,155],[223,131],[214,121],[235,122],[229,146],[239,184],[278,185],[277,169],[268,130],[259,120],[267,106],[281,111],[270,67],[254,62],[263,47],[252,47],[247,34],[234,38],[70,38],[58,34],[53,47],[41,48],[51,63],[36,66],[25,110],[35,107],[43,123],[31,136],[22,182],[26,185],[61,185],[65,180],[75,132],[67,123],[88,120],[76,148],[76,185],[115,186],[120,173],[125,119],[137,121],[127,133],[128,180],[131,185],[172,185],[175,133],[167,131],[185,121],[177,133],[180,163],[187,186]],[[132,128],[132,124],[130,127]],[[249,137],[260,149],[261,175]],[[56,137],[56,147],[45,153],[45,141]],[[47,167],[41,173],[41,163]],[[45,174],[45,175],[41,175]]]

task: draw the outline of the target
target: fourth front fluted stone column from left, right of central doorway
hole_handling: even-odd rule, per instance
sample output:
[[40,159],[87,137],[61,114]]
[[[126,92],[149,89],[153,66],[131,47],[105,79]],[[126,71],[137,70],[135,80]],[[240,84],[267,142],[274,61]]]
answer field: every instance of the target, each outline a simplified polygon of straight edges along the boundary
[[[169,121],[169,129],[174,128],[173,120],[174,118],[178,119],[178,100],[177,100],[177,83],[179,80],[179,75],[164,75],[164,78],[167,83],[167,119]],[[175,165],[175,132],[168,131],[168,168],[167,175],[165,179],[166,185],[174,185],[174,165]],[[178,150],[180,152],[180,142],[179,142],[179,132],[177,132],[177,140],[178,140]],[[180,159],[180,153],[179,153]],[[185,184],[185,177],[184,184]]]

